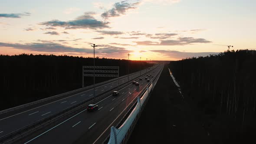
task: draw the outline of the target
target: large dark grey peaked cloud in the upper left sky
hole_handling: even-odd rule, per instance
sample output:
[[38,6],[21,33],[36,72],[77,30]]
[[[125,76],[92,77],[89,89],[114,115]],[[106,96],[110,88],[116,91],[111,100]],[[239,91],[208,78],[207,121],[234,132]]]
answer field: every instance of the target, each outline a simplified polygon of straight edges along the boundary
[[96,20],[93,15],[94,12],[87,12],[84,15],[77,17],[75,20],[70,21],[59,21],[51,20],[40,25],[51,26],[51,27],[63,27],[65,29],[103,29],[109,28],[109,22],[103,22]]

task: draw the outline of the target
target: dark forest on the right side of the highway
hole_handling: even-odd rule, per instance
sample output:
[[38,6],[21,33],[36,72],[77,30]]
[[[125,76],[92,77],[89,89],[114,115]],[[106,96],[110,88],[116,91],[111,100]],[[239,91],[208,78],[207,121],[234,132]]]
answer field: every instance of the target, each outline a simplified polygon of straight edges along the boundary
[[255,50],[171,61],[169,67],[214,144],[255,141]]

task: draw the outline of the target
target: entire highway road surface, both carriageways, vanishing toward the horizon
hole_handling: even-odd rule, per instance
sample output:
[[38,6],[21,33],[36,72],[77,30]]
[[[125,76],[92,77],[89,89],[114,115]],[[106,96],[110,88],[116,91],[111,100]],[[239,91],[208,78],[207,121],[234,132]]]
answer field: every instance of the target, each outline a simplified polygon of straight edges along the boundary
[[[155,66],[156,67],[156,66]],[[152,69],[152,68],[151,68]],[[151,72],[152,75],[157,74],[163,69],[163,65],[159,65]],[[98,105],[98,111],[87,112],[86,108],[82,111],[59,121],[57,124],[50,124],[47,127],[36,131],[33,134],[16,141],[21,144],[101,144],[110,133],[110,127],[117,124],[121,118],[131,107],[136,96],[146,87],[147,80],[144,79],[146,71],[141,71],[142,80],[139,80],[140,72],[129,75],[129,80],[135,79],[140,85],[129,84],[119,90],[120,95],[112,96],[95,101]],[[154,76],[160,76],[154,75]],[[150,77],[153,79],[153,77]],[[119,79],[119,85],[127,83],[128,78]],[[157,82],[157,80],[155,81]],[[154,82],[153,82],[154,83]],[[100,85],[95,88],[95,95],[101,95],[109,91],[113,87],[118,86],[118,81],[108,82],[105,85]],[[65,98],[61,97],[58,100],[47,101],[42,104],[37,104],[29,109],[22,111],[12,111],[0,115],[0,137],[23,128],[29,124],[46,118],[49,115],[54,115],[59,111],[63,111],[72,105],[76,105],[80,101],[93,97],[93,88],[69,94]]]

